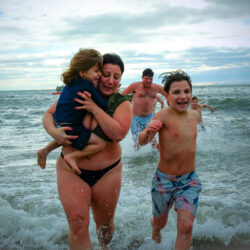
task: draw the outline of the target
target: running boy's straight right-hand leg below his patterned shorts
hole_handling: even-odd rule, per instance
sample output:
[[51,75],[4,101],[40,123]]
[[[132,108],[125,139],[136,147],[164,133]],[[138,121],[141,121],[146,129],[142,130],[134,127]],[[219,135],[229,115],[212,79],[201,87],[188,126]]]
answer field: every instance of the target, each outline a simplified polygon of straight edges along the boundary
[[185,209],[177,210],[177,238],[175,249],[190,249],[194,215]]

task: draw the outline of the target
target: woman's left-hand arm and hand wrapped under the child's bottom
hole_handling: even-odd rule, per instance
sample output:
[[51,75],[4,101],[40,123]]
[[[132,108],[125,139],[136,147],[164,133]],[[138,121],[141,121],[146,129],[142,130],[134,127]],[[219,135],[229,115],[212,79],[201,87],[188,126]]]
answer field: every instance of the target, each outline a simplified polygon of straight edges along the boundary
[[53,114],[56,110],[56,104],[57,102],[45,111],[43,116],[43,126],[47,133],[53,137],[59,145],[70,145],[72,144],[70,139],[76,139],[78,136],[67,135],[65,133],[66,130],[71,130],[71,127],[55,127]]

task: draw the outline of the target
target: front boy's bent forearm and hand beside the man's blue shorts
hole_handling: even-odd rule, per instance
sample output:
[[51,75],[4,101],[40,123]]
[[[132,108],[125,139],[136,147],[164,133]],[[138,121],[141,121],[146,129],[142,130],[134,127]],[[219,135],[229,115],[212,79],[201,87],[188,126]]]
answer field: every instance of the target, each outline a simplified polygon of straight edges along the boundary
[[151,142],[155,134],[162,127],[160,120],[152,120],[148,123],[147,127],[139,134],[138,142],[140,145],[146,145]]

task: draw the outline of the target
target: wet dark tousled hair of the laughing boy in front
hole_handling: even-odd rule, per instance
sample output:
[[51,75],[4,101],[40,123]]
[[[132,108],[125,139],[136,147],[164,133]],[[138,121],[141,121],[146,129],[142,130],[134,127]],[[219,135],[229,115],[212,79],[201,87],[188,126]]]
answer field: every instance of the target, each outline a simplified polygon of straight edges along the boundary
[[162,84],[164,84],[164,90],[169,93],[169,89],[173,82],[186,80],[192,91],[192,81],[190,76],[183,70],[176,70],[172,72],[164,72],[160,75],[162,77]]

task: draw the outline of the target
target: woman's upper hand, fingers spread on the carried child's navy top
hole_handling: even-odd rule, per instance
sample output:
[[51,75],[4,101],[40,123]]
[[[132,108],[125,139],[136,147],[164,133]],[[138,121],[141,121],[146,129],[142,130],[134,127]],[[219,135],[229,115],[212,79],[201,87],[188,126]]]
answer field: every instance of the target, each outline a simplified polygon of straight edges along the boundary
[[98,110],[100,109],[98,105],[92,100],[91,94],[87,91],[84,91],[83,93],[77,92],[77,94],[82,97],[84,100],[80,100],[78,98],[75,98],[74,101],[82,104],[82,106],[76,107],[76,109],[85,109],[88,112],[95,115]]

